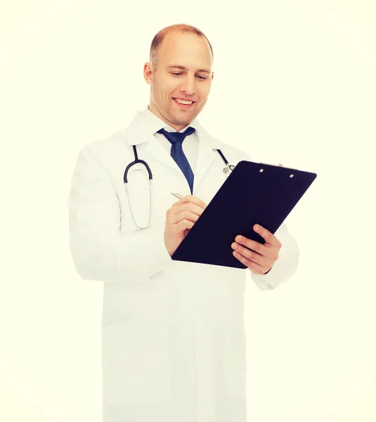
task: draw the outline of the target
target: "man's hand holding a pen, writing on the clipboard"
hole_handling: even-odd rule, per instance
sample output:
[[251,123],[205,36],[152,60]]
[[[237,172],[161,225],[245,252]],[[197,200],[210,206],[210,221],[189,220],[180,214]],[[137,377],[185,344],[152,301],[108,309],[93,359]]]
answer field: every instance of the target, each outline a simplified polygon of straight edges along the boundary
[[202,215],[207,205],[195,196],[188,195],[174,203],[166,212],[166,226],[164,228],[164,245],[169,255],[175,250],[192,229],[198,217]]

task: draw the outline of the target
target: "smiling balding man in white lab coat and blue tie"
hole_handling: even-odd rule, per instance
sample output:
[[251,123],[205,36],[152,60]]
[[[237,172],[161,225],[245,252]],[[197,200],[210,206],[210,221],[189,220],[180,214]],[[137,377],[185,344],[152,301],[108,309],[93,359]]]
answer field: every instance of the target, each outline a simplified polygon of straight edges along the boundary
[[[143,69],[149,106],[127,129],[83,148],[74,170],[74,265],[84,279],[105,282],[105,422],[247,420],[247,270],[171,260],[226,179],[215,150],[231,164],[250,160],[196,119],[209,96],[212,63],[212,46],[196,28],[174,25],[159,32]],[[153,173],[151,214],[143,165],[129,170],[128,193],[124,188],[124,169],[135,155]],[[171,192],[183,198],[176,201]],[[294,274],[297,244],[285,224],[275,235],[254,229],[264,245],[237,236],[229,251],[261,290],[272,289]]]

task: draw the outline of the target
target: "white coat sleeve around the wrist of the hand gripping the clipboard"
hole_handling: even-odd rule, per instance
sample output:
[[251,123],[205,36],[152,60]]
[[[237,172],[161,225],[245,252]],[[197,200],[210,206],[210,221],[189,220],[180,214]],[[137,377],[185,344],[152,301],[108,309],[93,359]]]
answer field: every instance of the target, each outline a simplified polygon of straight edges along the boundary
[[[245,154],[245,160],[254,161],[247,153]],[[278,260],[275,261],[267,274],[252,273],[252,280],[259,290],[273,290],[277,288],[295,274],[299,264],[299,247],[297,241],[288,231],[286,224],[281,224],[274,235],[281,243]]]

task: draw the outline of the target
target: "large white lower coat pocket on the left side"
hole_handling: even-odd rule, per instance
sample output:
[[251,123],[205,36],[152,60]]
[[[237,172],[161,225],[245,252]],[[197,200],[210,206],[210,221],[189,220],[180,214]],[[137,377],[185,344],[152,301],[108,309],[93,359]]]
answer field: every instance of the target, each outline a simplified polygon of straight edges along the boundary
[[102,353],[105,403],[140,404],[169,399],[166,322],[127,319],[103,326]]

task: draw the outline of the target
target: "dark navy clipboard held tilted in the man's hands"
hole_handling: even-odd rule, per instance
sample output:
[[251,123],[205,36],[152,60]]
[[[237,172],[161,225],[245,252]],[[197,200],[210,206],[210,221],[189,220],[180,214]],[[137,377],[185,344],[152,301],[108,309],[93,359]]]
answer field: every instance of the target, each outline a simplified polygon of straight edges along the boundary
[[240,161],[171,259],[246,269],[233,256],[235,236],[264,244],[254,224],[275,234],[316,177],[288,167]]

